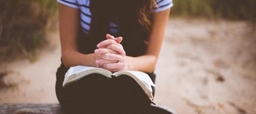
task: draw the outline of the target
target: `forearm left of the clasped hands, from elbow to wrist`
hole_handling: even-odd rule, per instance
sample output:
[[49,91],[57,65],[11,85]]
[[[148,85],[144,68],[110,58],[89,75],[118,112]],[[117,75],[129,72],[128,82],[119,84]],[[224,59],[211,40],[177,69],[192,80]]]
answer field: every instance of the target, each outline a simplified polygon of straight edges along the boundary
[[62,61],[65,67],[91,66],[95,67],[95,54],[83,54],[77,51],[62,53]]

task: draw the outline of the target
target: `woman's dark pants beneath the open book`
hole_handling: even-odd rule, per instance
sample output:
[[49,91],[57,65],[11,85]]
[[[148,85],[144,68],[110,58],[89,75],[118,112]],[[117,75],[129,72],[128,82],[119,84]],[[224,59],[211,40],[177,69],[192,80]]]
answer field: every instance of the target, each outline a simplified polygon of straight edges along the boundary
[[170,113],[151,107],[142,88],[129,76],[91,74],[62,87],[67,68],[57,71],[56,94],[68,113]]

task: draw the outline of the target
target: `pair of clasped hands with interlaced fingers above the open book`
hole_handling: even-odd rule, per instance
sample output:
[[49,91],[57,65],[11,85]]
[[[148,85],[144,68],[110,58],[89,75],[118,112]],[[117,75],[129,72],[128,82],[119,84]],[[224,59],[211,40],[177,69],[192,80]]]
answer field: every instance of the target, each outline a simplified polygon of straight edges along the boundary
[[126,54],[122,44],[122,37],[106,35],[106,40],[100,42],[94,50],[96,67],[116,72],[127,70]]

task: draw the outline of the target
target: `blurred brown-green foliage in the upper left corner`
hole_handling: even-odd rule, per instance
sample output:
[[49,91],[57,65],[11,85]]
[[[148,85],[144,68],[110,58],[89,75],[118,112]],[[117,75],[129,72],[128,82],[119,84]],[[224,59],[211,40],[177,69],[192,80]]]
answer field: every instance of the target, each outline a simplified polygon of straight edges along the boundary
[[56,11],[55,0],[0,0],[0,61],[20,54],[34,61]]

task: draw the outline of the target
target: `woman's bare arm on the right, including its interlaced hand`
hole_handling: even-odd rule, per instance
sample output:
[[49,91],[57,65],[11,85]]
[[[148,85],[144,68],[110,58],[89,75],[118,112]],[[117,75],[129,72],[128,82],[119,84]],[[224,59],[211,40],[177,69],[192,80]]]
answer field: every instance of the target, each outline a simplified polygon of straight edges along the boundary
[[[97,64],[99,65],[102,64],[103,68],[108,69],[110,71],[140,70],[143,72],[152,72],[155,68],[158,54],[162,46],[165,26],[169,19],[169,13],[170,13],[170,9],[154,14],[153,28],[149,36],[148,48],[145,55],[132,57],[132,56],[126,56],[119,53],[119,55],[124,56],[124,59],[121,59],[121,62],[107,63],[107,62],[102,62],[102,59],[101,59],[101,61],[98,62]],[[117,43],[113,39],[115,40],[115,38],[107,38],[106,40],[103,40],[98,44],[100,45],[98,47],[109,48],[107,47],[108,45],[113,45],[113,44],[117,45]],[[120,47],[122,48],[122,46]],[[111,48],[111,49],[117,51],[115,48]]]

